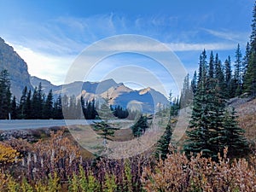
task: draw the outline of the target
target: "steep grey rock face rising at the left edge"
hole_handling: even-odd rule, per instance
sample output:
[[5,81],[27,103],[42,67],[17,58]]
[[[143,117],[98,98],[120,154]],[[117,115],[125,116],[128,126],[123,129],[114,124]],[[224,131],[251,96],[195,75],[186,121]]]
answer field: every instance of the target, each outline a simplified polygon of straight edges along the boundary
[[20,99],[25,86],[32,89],[26,62],[4,42],[3,38],[0,38],[0,70],[3,69],[7,69],[9,72],[11,92],[17,99]]

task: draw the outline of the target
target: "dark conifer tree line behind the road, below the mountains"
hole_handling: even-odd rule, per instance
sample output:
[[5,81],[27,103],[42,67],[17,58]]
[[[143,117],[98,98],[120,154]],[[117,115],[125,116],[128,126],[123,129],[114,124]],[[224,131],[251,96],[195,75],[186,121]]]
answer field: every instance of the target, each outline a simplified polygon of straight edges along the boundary
[[[61,96],[56,99],[52,90],[46,95],[42,84],[34,90],[25,87],[20,100],[12,96],[10,91],[8,70],[0,73],[0,119],[99,119],[97,111],[101,106],[96,99],[84,101],[80,96]],[[62,110],[68,112],[63,116]],[[110,110],[118,119],[134,119],[137,112],[118,106],[110,106]]]

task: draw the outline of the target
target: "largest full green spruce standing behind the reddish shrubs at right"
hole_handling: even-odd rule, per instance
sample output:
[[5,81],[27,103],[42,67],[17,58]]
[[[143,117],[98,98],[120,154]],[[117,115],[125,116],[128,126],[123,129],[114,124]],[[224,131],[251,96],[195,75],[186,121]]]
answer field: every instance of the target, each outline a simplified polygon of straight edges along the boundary
[[194,154],[202,152],[203,156],[217,158],[221,149],[218,132],[223,127],[224,99],[218,79],[210,79],[207,76],[207,63],[205,61],[200,63],[204,65],[201,65],[201,80],[198,82],[194,96],[190,130],[186,131],[189,138],[183,149],[188,155],[191,152]]

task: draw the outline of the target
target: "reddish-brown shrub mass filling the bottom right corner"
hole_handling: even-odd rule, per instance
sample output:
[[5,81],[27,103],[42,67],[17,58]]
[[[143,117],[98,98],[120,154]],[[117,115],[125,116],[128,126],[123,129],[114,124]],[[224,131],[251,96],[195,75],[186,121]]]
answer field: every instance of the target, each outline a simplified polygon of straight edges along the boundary
[[155,167],[144,167],[146,191],[254,191],[256,171],[245,159],[233,160],[218,154],[218,162],[202,154],[187,159],[185,154],[168,154]]

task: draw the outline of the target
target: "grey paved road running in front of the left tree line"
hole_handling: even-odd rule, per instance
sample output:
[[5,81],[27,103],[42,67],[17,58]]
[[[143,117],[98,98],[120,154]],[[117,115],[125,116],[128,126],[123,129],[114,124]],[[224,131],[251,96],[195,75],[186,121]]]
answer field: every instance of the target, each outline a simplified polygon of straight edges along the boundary
[[35,129],[64,125],[90,125],[93,120],[84,119],[36,119],[36,120],[0,120],[0,130]]

